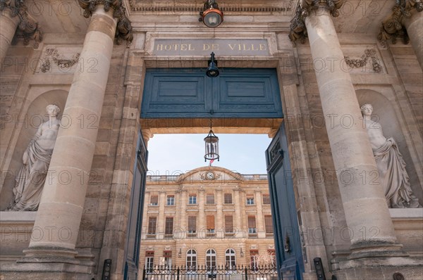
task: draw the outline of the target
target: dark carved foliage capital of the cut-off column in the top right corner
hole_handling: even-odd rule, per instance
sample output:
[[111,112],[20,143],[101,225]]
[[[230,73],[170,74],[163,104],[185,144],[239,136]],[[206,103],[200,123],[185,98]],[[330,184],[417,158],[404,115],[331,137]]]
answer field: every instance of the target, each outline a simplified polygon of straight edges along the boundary
[[397,38],[403,38],[404,44],[408,44],[407,30],[403,25],[404,18],[410,18],[412,11],[423,11],[423,0],[396,0],[395,6],[392,8],[391,15],[388,15],[382,22],[381,31],[378,38],[382,44],[386,40],[391,39],[393,44]]

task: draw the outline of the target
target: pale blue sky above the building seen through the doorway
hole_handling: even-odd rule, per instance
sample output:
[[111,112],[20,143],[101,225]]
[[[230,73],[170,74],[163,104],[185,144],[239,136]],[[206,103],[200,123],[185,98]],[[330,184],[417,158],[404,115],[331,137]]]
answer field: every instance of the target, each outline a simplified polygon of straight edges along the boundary
[[[148,141],[149,175],[185,173],[204,163],[206,134],[154,134]],[[264,152],[271,139],[267,134],[217,134],[219,137],[219,166],[240,174],[266,174]]]

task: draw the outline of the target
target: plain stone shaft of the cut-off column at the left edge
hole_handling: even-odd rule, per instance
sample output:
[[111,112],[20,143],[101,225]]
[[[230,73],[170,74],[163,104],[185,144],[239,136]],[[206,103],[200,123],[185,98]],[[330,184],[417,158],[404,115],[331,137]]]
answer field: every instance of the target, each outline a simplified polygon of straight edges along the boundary
[[8,47],[11,45],[13,36],[15,36],[16,28],[18,27],[20,18],[16,15],[11,16],[11,13],[5,9],[1,11],[0,16],[0,65],[3,64],[3,59],[6,56]]

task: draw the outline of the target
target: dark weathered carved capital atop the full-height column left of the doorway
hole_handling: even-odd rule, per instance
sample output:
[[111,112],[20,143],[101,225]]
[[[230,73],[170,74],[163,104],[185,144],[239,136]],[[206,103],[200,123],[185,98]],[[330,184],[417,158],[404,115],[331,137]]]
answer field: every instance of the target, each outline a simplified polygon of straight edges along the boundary
[[121,0],[78,0],[78,3],[84,10],[85,18],[90,18],[97,5],[103,5],[106,12],[113,8],[113,16],[118,19],[115,34],[116,44],[120,45],[123,41],[126,41],[126,46],[130,47],[133,41],[132,25],[126,16],[126,9]]

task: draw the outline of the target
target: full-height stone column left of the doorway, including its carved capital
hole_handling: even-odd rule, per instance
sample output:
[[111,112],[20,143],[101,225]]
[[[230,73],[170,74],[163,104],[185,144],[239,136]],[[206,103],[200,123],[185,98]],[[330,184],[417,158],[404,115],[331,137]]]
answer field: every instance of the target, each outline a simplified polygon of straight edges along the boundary
[[59,129],[34,224],[34,229],[43,234],[31,239],[20,262],[78,263],[74,258],[77,254],[75,244],[109,76],[116,24],[125,15],[120,1],[113,4],[90,2],[88,5],[89,2],[80,0],[85,16],[92,15],[80,60],[85,66],[94,61],[97,68],[76,71],[73,77],[63,110],[72,125]]

